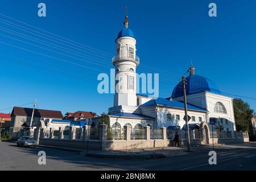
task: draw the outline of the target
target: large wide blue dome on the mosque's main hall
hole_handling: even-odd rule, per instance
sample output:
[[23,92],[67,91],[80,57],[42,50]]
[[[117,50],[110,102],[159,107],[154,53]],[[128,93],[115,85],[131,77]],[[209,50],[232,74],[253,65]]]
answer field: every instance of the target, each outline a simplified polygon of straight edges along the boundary
[[[218,87],[214,84],[212,80],[199,75],[190,75],[186,78],[186,94],[193,94],[199,92],[212,92],[221,94]],[[179,82],[172,91],[172,97],[183,96],[183,85],[182,81]]]

